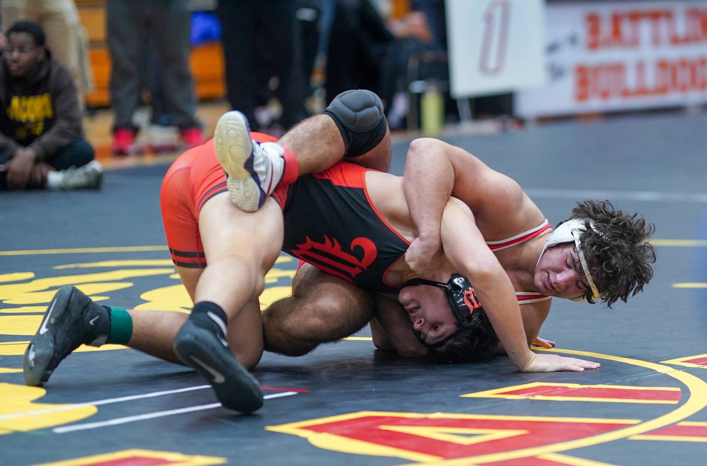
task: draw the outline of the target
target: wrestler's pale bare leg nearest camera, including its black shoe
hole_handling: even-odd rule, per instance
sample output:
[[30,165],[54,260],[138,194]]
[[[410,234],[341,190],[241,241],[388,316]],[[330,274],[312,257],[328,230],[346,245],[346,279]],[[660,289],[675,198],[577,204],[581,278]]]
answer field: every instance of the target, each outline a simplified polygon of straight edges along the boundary
[[267,198],[257,212],[243,212],[233,207],[228,193],[220,193],[201,208],[199,235],[206,268],[174,351],[211,384],[224,408],[256,411],[263,404],[262,390],[247,369],[262,356],[257,300],[282,246],[282,211]]

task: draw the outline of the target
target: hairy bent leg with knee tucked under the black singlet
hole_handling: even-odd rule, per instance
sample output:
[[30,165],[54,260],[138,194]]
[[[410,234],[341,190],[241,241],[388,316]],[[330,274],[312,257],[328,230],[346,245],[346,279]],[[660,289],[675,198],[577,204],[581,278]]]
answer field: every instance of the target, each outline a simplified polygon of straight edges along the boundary
[[265,349],[303,356],[363,328],[373,316],[373,303],[373,293],[304,264],[293,280],[292,296],[262,313]]

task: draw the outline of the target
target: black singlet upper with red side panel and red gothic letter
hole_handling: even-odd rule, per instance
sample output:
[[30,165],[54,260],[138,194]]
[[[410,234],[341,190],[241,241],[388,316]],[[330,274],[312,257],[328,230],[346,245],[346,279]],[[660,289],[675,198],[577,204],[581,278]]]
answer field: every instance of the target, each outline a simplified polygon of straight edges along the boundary
[[370,205],[366,171],[342,162],[291,184],[283,250],[366,290],[397,294],[383,277],[409,243]]

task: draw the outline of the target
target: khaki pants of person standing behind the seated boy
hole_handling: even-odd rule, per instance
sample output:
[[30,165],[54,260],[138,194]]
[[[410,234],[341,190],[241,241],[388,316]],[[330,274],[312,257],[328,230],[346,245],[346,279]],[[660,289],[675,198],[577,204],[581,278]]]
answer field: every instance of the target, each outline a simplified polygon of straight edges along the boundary
[[78,21],[74,0],[1,0],[0,18],[4,31],[21,19],[42,26],[52,56],[69,67],[83,108],[83,96],[93,91],[94,84],[86,30]]

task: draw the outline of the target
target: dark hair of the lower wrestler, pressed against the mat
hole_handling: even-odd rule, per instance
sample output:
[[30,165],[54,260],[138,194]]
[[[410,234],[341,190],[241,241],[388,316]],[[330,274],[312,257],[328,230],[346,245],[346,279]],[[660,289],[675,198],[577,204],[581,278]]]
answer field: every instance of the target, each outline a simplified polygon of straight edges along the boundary
[[474,325],[452,336],[443,351],[430,350],[430,356],[439,363],[473,363],[489,360],[496,353],[498,336],[483,309],[476,309],[479,317]]

